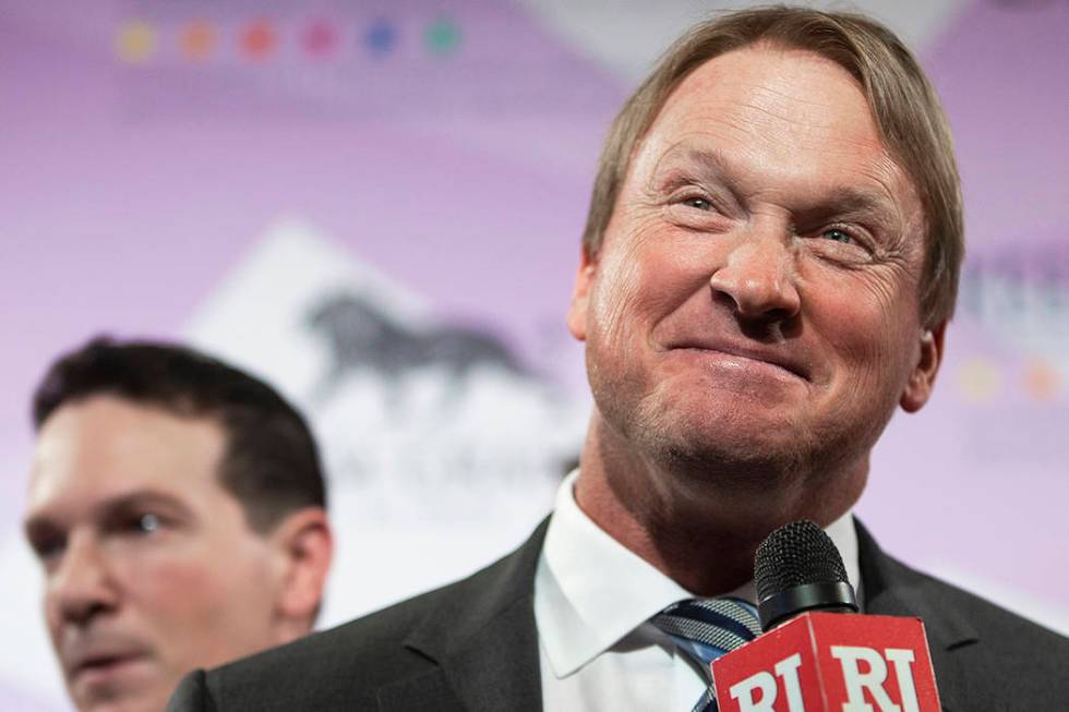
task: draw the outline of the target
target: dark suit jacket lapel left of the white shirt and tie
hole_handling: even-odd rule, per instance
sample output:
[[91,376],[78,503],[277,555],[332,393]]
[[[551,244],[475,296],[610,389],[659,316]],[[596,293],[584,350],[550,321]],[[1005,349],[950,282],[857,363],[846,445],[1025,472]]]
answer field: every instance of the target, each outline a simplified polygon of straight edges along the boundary
[[533,598],[548,521],[515,553],[442,596],[405,640],[439,668],[381,689],[381,710],[541,712]]

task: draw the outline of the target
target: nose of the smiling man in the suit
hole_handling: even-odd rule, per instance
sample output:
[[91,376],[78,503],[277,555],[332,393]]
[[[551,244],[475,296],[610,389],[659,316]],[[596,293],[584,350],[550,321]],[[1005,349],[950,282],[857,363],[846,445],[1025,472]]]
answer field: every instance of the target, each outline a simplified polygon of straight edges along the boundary
[[770,232],[741,237],[709,285],[730,301],[740,318],[778,322],[801,310],[796,278],[789,239]]

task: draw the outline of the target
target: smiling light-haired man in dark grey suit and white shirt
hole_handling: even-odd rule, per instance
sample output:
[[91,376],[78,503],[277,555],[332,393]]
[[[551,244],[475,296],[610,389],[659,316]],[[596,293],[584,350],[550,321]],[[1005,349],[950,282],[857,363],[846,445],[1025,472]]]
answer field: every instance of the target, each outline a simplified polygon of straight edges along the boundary
[[698,25],[602,156],[567,316],[594,410],[548,524],[464,581],[195,673],[172,709],[711,710],[723,650],[666,612],[753,636],[754,552],[797,519],[867,612],[923,618],[948,709],[1060,709],[1065,639],[851,517],[891,414],[932,394],[961,225],[946,119],[890,32],[790,8]]

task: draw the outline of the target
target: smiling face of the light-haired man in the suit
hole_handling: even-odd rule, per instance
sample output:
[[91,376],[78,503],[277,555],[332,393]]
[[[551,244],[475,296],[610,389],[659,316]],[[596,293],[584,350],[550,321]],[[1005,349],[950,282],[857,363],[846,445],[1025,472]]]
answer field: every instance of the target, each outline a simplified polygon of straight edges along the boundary
[[860,467],[920,408],[923,218],[851,76],[747,48],[673,93],[632,160],[569,327],[609,429],[674,461]]

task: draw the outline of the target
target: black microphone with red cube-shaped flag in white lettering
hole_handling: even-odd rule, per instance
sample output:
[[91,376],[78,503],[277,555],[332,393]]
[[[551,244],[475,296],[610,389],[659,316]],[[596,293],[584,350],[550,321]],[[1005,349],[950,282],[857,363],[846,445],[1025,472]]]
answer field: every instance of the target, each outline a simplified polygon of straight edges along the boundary
[[940,712],[924,624],[857,614],[820,527],[777,529],[754,570],[765,632],[712,662],[721,712]]

